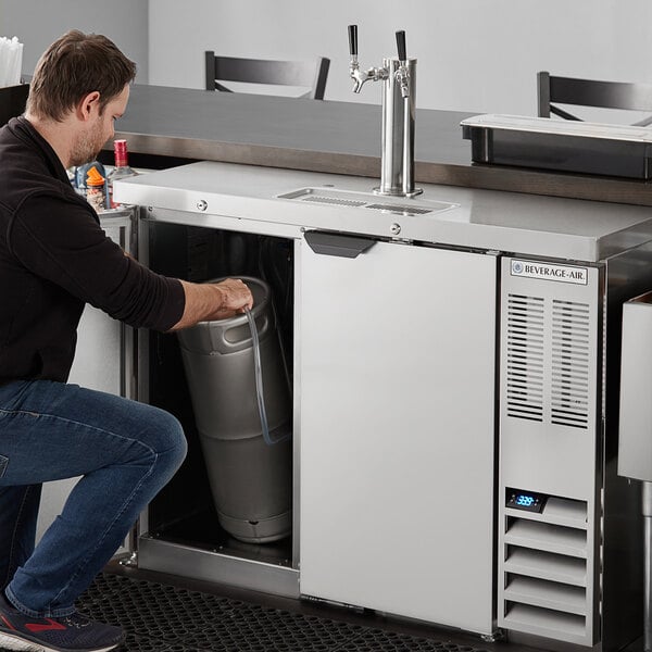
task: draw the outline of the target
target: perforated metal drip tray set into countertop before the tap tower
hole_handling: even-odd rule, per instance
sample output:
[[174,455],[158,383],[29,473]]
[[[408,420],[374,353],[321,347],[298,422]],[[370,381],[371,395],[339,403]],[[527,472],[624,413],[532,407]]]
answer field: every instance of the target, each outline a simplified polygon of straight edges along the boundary
[[278,199],[291,199],[306,203],[325,204],[364,211],[379,211],[393,215],[428,215],[456,209],[460,204],[444,201],[418,202],[404,197],[377,196],[365,192],[337,190],[335,188],[301,188],[292,192],[277,195]]

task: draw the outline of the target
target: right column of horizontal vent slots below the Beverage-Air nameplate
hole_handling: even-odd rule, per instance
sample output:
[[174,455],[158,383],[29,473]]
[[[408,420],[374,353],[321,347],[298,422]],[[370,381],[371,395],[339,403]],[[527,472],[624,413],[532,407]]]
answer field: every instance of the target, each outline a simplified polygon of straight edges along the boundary
[[552,302],[551,422],[587,428],[589,414],[589,305]]

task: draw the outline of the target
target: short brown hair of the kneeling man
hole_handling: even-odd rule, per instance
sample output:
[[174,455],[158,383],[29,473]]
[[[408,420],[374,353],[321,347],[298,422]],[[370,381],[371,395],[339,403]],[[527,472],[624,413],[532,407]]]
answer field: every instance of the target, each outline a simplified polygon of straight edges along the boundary
[[71,29],[41,55],[29,86],[27,112],[61,122],[89,92],[100,111],[134,80],[136,64],[105,36]]

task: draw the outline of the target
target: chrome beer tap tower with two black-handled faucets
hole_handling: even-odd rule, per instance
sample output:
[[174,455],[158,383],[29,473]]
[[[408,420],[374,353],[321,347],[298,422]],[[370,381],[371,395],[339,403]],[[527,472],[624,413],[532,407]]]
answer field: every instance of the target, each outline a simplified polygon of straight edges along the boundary
[[383,153],[380,186],[377,195],[414,197],[423,192],[414,187],[414,115],[416,98],[416,59],[405,53],[405,32],[397,32],[398,59],[386,58],[383,67],[360,70],[358,62],[358,25],[349,25],[349,74],[353,92],[365,82],[383,84]]

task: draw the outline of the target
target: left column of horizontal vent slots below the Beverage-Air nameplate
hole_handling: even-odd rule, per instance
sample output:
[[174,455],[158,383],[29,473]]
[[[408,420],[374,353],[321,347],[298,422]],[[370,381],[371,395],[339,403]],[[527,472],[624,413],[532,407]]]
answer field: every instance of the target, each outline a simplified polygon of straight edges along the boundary
[[507,415],[543,421],[544,306],[540,297],[507,300]]

